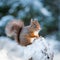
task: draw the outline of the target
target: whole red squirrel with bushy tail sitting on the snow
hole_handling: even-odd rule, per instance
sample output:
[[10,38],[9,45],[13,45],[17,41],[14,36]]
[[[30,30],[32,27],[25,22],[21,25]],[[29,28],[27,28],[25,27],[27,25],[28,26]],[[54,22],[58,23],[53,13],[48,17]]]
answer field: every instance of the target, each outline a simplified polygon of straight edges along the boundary
[[27,46],[39,37],[40,29],[41,27],[37,20],[31,19],[29,26],[24,26],[22,20],[12,20],[6,25],[5,32],[7,36],[14,38],[18,44]]

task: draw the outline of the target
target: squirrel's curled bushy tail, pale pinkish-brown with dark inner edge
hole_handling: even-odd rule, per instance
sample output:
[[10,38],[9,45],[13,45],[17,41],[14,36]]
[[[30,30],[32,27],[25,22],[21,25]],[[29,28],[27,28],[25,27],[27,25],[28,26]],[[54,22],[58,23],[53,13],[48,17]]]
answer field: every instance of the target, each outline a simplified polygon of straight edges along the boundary
[[13,39],[17,40],[20,43],[19,35],[24,27],[24,23],[21,20],[12,20],[7,23],[5,27],[5,33],[8,37],[12,37]]

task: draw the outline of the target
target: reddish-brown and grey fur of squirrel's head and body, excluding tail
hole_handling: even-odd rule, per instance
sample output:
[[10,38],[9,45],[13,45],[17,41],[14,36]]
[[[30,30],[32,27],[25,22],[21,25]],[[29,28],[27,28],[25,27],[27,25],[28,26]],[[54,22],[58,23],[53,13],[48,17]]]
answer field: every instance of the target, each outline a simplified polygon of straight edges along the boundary
[[[34,27],[34,24],[36,27]],[[31,44],[31,38],[38,38],[39,35],[35,35],[34,32],[40,29],[40,24],[38,21],[31,21],[31,24],[29,26],[23,27],[22,33],[20,34],[20,44],[27,46]]]

